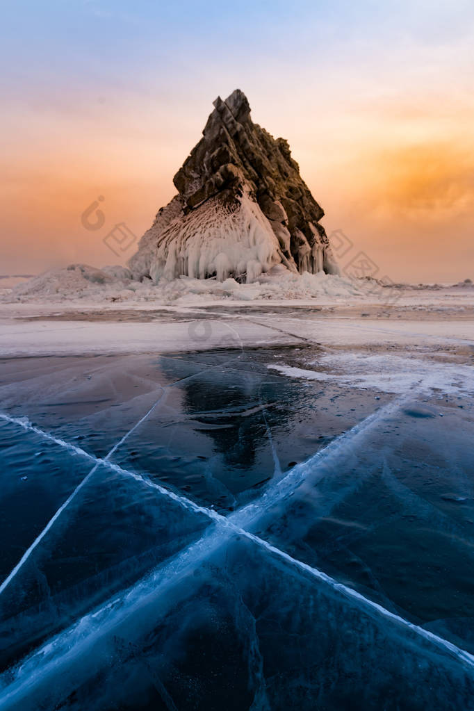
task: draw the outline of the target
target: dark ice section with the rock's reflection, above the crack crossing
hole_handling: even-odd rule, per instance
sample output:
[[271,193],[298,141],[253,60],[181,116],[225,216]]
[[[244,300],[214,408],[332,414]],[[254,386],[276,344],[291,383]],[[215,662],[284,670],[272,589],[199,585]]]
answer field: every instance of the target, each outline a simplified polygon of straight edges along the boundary
[[245,353],[230,364],[226,352],[200,353],[202,372],[184,379],[181,358],[161,358],[176,387],[114,461],[233,510],[373,411],[372,395],[356,400],[270,374],[268,355]]

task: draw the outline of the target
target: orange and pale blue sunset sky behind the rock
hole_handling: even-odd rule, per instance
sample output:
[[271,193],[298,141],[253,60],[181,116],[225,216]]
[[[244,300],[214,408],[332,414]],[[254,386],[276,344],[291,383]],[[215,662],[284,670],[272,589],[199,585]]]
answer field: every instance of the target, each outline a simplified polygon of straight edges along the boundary
[[0,33],[0,274],[117,263],[239,87],[379,276],[474,278],[472,0],[17,0]]

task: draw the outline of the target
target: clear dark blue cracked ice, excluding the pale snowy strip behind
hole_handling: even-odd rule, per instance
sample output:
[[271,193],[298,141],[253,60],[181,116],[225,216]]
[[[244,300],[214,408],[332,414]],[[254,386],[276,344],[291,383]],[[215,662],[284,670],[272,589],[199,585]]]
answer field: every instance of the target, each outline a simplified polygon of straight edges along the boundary
[[8,575],[166,390],[0,595],[0,709],[473,707],[469,403],[235,353],[125,363],[121,401],[108,365],[28,413],[92,459],[0,423]]

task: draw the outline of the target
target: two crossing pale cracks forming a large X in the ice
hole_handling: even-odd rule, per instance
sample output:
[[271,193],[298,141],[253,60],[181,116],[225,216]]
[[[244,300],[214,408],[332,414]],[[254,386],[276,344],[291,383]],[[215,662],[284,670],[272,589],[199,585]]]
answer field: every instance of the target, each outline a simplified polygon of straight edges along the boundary
[[[338,582],[325,574],[323,571],[292,557],[289,553],[286,553],[284,550],[279,549],[270,542],[260,538],[258,535],[255,535],[248,530],[250,526],[258,523],[262,513],[264,513],[269,506],[276,503],[276,501],[279,501],[281,498],[286,498],[286,496],[289,496],[292,491],[295,491],[295,489],[306,479],[308,467],[311,467],[313,464],[324,464],[328,457],[333,454],[339,454],[345,444],[350,444],[352,439],[357,437],[358,434],[366,432],[372,424],[379,422],[384,415],[393,412],[396,407],[399,407],[400,400],[404,399],[405,398],[399,398],[398,400],[393,401],[389,405],[382,407],[377,412],[365,418],[348,432],[345,432],[340,435],[340,437],[333,440],[333,442],[328,444],[328,446],[323,450],[318,451],[318,453],[313,455],[308,461],[294,467],[284,476],[283,479],[267,488],[257,502],[250,503],[227,517],[208,507],[200,506],[198,503],[191,501],[187,497],[171,491],[168,488],[147,479],[141,474],[136,474],[135,472],[123,469],[119,465],[107,461],[106,459],[97,459],[96,466],[104,465],[107,466],[107,468],[116,471],[118,474],[131,476],[136,481],[140,481],[141,483],[144,483],[144,485],[155,489],[163,496],[171,498],[182,508],[191,510],[194,513],[205,515],[206,518],[215,523],[217,528],[213,530],[211,535],[209,532],[206,532],[200,539],[198,539],[198,541],[178,553],[171,563],[166,564],[164,567],[162,565],[158,566],[155,571],[141,579],[139,582],[136,582],[134,586],[132,586],[128,591],[122,593],[118,598],[110,600],[107,604],[104,604],[96,611],[83,616],[68,630],[60,632],[58,636],[46,643],[43,648],[36,653],[33,653],[33,655],[26,659],[18,669],[16,682],[13,683],[9,690],[8,688],[5,689],[6,694],[4,695],[4,702],[8,704],[9,699],[12,700],[12,697],[15,697],[16,693],[21,695],[24,692],[28,693],[28,690],[31,689],[31,683],[33,681],[31,676],[29,676],[29,680],[23,677],[23,673],[25,673],[28,668],[28,660],[33,660],[38,658],[38,656],[43,659],[43,668],[40,668],[41,674],[39,678],[37,674],[38,669],[36,669],[36,673],[34,674],[35,680],[38,680],[41,683],[41,680],[43,680],[45,676],[58,671],[61,665],[65,665],[68,661],[72,661],[73,658],[82,652],[86,653],[89,645],[92,645],[94,641],[97,641],[97,638],[103,638],[108,631],[115,629],[120,621],[124,619],[124,617],[128,617],[132,614],[134,610],[141,609],[141,606],[144,606],[147,602],[149,602],[150,597],[153,597],[153,599],[156,599],[156,596],[161,597],[161,594],[164,592],[163,585],[165,586],[165,589],[167,589],[170,585],[178,584],[179,580],[183,578],[183,575],[187,574],[190,570],[190,567],[195,568],[201,560],[205,560],[210,553],[212,553],[212,551],[224,544],[229,535],[238,535],[242,538],[250,540],[254,543],[254,545],[258,545],[271,555],[284,560],[284,562],[286,562],[289,566],[296,568],[303,573],[309,574],[311,577],[327,584],[329,587],[342,594],[346,599],[353,599],[363,608],[375,611],[377,614],[380,614],[385,618],[396,622],[397,624],[402,624],[415,634],[426,639],[426,641],[434,643],[438,646],[438,648],[442,648],[443,651],[452,653],[460,661],[467,663],[471,668],[474,667],[474,656],[467,651],[459,648],[446,639],[431,633],[430,631],[426,631],[416,624],[412,624],[402,616],[385,609],[382,605],[364,597],[359,592],[343,583]],[[24,422],[18,422],[17,424],[21,424],[23,427],[25,426]],[[38,430],[38,428],[36,428],[36,431],[42,434],[41,430]],[[50,438],[47,433],[45,433],[45,436],[48,437],[48,439]],[[68,445],[66,444],[66,446]],[[68,449],[70,449],[70,447],[68,447]],[[72,449],[74,449],[76,454],[81,454],[82,456],[91,458],[90,454],[78,447],[73,447]],[[222,538],[222,531],[227,532],[227,536],[225,536],[224,539]],[[158,582],[160,582],[160,584],[158,584]],[[108,612],[111,610],[113,616],[112,619],[103,619],[104,616],[107,616]],[[92,631],[87,631],[87,620],[94,621]],[[72,646],[68,646],[68,641],[71,641],[71,637],[74,638],[77,635],[79,635],[77,641],[73,643]],[[65,645],[67,646],[66,649],[64,649]],[[55,651],[57,651],[58,654],[55,655]],[[54,655],[52,659],[48,659],[50,654]],[[1,705],[3,706],[3,702],[1,702]]]

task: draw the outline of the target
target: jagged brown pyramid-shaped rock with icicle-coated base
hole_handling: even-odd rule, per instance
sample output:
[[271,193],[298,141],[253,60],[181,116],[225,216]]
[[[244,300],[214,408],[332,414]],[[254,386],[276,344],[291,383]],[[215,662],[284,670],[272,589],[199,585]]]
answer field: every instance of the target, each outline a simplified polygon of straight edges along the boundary
[[214,107],[203,138],[173,178],[178,195],[158,211],[129,261],[134,277],[251,282],[276,264],[337,274],[319,224],[323,210],[287,141],[252,122],[239,89]]

